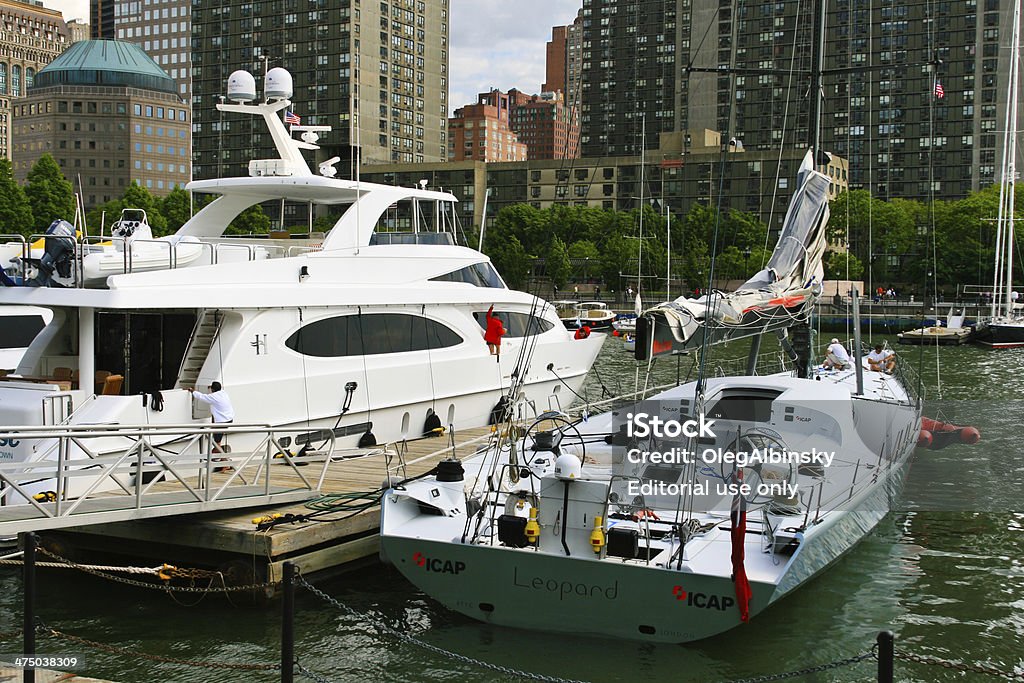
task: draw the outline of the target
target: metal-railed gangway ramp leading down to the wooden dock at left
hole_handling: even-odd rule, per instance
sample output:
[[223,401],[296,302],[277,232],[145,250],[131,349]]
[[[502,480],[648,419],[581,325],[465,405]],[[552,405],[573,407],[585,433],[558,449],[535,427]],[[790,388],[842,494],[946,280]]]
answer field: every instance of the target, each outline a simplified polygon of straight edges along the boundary
[[[256,445],[215,452],[214,429],[232,443]],[[112,439],[124,445],[111,451]],[[46,425],[0,431],[0,444],[18,440],[38,442],[47,455],[31,462],[0,460],[0,537],[301,502],[318,496],[333,461],[351,455],[336,450],[331,430],[259,424]],[[304,446],[293,454],[293,443]]]

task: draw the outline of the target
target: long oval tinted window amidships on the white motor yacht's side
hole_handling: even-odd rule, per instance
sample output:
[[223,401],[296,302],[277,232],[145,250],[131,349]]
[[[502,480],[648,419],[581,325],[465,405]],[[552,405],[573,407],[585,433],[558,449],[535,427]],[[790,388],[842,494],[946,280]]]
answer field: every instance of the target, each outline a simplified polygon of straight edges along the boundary
[[375,355],[445,348],[462,343],[440,323],[404,313],[339,315],[297,330],[285,345],[305,355]]

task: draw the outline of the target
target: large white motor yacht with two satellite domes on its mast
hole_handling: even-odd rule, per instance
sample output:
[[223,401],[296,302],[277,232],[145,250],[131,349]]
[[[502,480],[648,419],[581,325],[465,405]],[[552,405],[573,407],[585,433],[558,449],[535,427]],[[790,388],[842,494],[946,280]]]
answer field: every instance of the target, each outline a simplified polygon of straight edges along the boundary
[[[214,381],[237,423],[308,427],[296,444],[327,432],[354,446],[485,425],[501,418],[496,407],[513,384],[540,410],[567,405],[603,336],[574,339],[550,304],[509,289],[485,255],[459,246],[455,196],[338,179],[336,159],[313,173],[302,151],[317,150],[329,129],[286,127],[291,76],[272,69],[265,84],[257,99],[255,79],[236,72],[232,101],[218,109],[261,118],[279,157],[251,161],[248,177],[189,183],[217,197],[174,236],[201,250],[188,267],[168,258],[160,269],[84,278],[83,258],[94,252],[63,236],[47,242],[60,283],[42,272],[37,286],[0,287],[0,305],[53,312],[16,376],[0,381],[0,424],[200,425],[210,414],[187,389]],[[225,234],[239,214],[267,202],[298,203],[310,216],[344,213],[326,234],[304,240]],[[395,216],[408,229],[383,231]],[[507,330],[497,356],[483,341],[492,306]],[[92,381],[68,389],[46,381],[57,368],[90,379],[112,373],[120,387],[104,385],[113,395]],[[53,457],[28,439],[0,449],[8,462]]]

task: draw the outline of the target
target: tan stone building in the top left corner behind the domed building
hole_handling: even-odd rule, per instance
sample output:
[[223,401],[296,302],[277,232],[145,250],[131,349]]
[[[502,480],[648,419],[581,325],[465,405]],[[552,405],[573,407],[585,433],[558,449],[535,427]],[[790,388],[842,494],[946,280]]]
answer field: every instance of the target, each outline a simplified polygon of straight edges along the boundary
[[71,41],[60,12],[42,5],[0,0],[0,157],[10,159],[14,104]]

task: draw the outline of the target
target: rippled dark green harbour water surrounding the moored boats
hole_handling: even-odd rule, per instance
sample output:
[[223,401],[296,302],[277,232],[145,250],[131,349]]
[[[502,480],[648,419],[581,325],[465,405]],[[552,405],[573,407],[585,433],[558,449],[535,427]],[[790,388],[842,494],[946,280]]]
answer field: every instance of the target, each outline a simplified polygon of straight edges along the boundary
[[[830,336],[830,333],[828,334]],[[631,387],[634,364],[609,339],[598,375]],[[765,345],[765,350],[768,344]],[[330,681],[515,681],[381,635],[374,622],[486,661],[590,681],[723,681],[823,664],[868,649],[883,629],[897,646],[1004,671],[1024,671],[1024,351],[978,347],[901,348],[923,368],[926,414],[977,424],[982,442],[919,451],[900,510],[857,548],[752,624],[686,646],[649,645],[495,628],[449,612],[396,571],[372,566],[316,586],[358,610],[355,617],[308,592],[297,601],[300,663]],[[724,355],[745,353],[740,344]],[[938,355],[939,364],[936,365]],[[680,371],[685,377],[688,368]],[[674,362],[657,369],[675,379]],[[593,395],[599,383],[591,382]],[[941,391],[939,387],[941,386]],[[941,398],[940,398],[941,396]],[[170,559],[170,558],[169,558]],[[22,583],[0,569],[0,631],[20,624]],[[278,604],[232,606],[210,595],[196,603],[72,572],[40,575],[42,618],[53,628],[132,652],[204,661],[274,663]],[[18,641],[0,643],[16,652]],[[117,681],[273,681],[274,672],[239,672],[151,661],[52,639],[40,651],[83,654],[83,675]],[[873,680],[873,661],[802,681]],[[978,674],[898,663],[901,681],[985,680]]]

